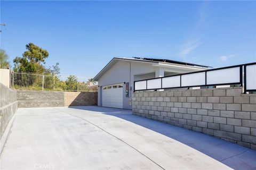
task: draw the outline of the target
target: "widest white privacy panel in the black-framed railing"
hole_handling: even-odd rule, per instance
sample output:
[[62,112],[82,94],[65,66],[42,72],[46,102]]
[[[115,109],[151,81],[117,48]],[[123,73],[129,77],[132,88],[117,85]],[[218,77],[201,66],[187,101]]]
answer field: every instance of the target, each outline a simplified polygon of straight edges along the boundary
[[224,84],[240,82],[240,67],[207,71],[207,84]]

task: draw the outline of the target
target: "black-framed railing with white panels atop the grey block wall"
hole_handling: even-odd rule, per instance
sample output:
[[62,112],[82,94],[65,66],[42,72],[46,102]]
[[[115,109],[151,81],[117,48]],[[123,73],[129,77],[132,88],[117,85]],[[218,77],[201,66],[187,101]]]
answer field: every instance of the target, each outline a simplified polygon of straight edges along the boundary
[[256,63],[248,63],[134,81],[134,91],[240,84],[244,91],[256,91]]

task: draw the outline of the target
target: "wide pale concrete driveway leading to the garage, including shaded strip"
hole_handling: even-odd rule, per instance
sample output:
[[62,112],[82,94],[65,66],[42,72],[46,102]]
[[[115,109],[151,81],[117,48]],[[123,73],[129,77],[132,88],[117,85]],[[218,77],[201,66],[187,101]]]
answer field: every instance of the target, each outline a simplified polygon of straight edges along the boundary
[[20,108],[1,169],[256,169],[255,160],[255,150],[123,109]]

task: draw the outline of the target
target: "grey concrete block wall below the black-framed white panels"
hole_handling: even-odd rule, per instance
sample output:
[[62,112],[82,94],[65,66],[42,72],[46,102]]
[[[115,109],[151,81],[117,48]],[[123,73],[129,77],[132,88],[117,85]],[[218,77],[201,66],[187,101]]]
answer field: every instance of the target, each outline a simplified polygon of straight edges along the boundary
[[132,111],[256,150],[256,94],[241,87],[138,91]]

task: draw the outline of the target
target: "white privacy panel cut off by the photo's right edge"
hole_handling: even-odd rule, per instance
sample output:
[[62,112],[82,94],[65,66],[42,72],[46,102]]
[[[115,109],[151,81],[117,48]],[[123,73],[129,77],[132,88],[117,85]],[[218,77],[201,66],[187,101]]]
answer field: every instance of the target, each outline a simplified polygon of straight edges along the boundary
[[246,90],[256,89],[256,64],[246,66]]

